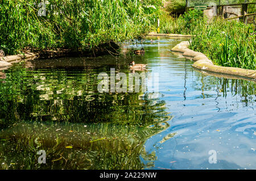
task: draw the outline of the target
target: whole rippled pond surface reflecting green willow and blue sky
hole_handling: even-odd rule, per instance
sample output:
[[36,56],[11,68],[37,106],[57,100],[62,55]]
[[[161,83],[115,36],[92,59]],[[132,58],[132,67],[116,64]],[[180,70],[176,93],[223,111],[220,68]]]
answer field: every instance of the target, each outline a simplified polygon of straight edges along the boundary
[[[4,70],[0,169],[256,169],[255,82],[200,73],[171,52],[180,41]],[[159,91],[98,92],[99,73],[128,74],[130,61],[158,73]]]

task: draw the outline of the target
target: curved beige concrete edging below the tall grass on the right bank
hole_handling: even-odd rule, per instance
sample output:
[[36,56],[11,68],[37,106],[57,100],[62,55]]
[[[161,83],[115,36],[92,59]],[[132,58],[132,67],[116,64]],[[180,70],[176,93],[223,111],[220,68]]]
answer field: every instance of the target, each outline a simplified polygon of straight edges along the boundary
[[230,68],[230,67],[213,65],[213,62],[209,60],[207,56],[205,56],[203,53],[195,52],[191,49],[188,49],[188,45],[189,45],[189,41],[182,41],[171,50],[174,52],[181,52],[183,53],[183,56],[192,57],[192,60],[195,61],[195,63],[192,65],[193,68],[213,71],[215,73],[221,73],[221,74],[248,77],[254,80],[256,79],[256,70]]

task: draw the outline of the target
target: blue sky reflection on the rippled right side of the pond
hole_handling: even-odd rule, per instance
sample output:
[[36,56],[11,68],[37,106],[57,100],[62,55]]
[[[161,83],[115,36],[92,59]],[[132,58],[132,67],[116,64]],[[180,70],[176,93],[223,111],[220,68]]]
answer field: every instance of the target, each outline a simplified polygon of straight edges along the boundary
[[[154,57],[152,71],[161,72],[161,100],[174,118],[146,141],[158,157],[151,169],[255,169],[255,83],[201,74],[180,54],[165,58]],[[216,164],[208,162],[209,150],[216,150]]]

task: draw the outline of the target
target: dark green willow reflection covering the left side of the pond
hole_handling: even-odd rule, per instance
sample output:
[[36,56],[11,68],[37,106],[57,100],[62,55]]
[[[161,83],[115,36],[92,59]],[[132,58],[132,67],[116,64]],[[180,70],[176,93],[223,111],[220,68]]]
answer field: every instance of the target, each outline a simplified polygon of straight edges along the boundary
[[[0,82],[1,169],[150,167],[140,156],[156,157],[144,142],[168,128],[171,119],[159,93],[97,90],[99,73],[115,68],[128,74],[126,62],[133,57],[35,60],[5,71],[5,82]],[[45,165],[38,163],[39,150],[46,151]]]

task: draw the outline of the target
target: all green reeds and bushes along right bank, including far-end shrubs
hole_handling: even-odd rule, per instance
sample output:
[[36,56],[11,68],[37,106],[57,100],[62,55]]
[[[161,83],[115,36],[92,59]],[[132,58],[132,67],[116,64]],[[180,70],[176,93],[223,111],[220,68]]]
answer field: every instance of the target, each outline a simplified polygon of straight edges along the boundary
[[190,48],[206,54],[217,65],[255,70],[255,25],[218,17],[207,23],[202,12],[191,10],[176,19],[163,13],[160,30],[194,35]]

